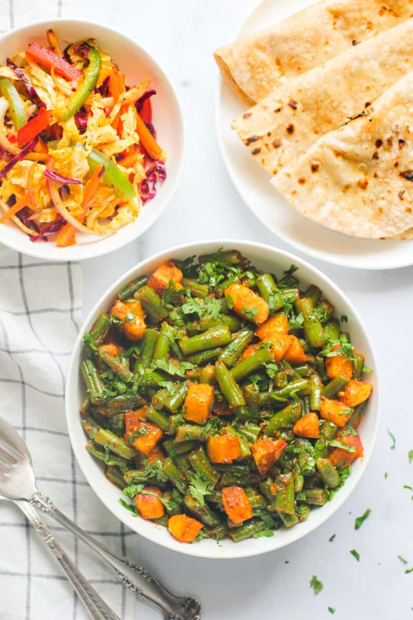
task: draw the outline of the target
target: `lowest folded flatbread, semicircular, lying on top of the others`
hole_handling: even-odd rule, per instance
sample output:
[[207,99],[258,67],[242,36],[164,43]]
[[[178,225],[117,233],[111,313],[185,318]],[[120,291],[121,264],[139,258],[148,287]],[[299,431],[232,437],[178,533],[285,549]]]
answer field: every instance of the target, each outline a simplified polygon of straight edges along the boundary
[[379,239],[412,228],[413,72],[271,183],[300,213],[335,231]]

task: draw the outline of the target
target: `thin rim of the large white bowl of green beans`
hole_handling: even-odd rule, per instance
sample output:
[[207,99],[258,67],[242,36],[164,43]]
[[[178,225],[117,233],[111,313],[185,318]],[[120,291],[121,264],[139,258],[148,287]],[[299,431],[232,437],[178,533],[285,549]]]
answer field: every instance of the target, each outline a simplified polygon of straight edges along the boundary
[[[273,247],[273,246],[269,246],[267,244],[263,244],[263,243],[259,243],[259,242],[254,242],[254,241],[245,241],[245,240],[240,240],[240,239],[207,239],[204,241],[192,241],[191,243],[188,244],[180,244],[179,246],[173,246],[170,247],[166,250],[162,250],[162,252],[158,252],[157,254],[151,255],[149,258],[142,260],[141,262],[137,263],[136,265],[134,265],[134,267],[130,268],[127,272],[125,272],[120,278],[118,278],[113,285],[111,285],[111,287],[106,291],[105,294],[101,295],[100,298],[96,301],[96,303],[93,305],[93,308],[90,310],[90,312],[88,313],[85,321],[82,324],[82,327],[80,328],[79,334],[77,335],[77,339],[76,342],[74,343],[74,347],[73,347],[73,352],[71,355],[71,359],[69,362],[69,368],[67,370],[67,376],[66,376],[66,391],[65,391],[65,398],[64,398],[64,404],[65,404],[65,413],[66,413],[66,423],[67,423],[67,428],[69,430],[69,439],[71,441],[71,445],[74,451],[74,454],[76,456],[76,460],[77,460],[77,464],[79,465],[80,469],[82,470],[87,482],[89,483],[90,487],[92,488],[93,492],[95,493],[95,495],[97,495],[98,499],[108,508],[108,510],[110,510],[110,512],[116,516],[117,518],[120,518],[121,521],[123,521],[124,525],[128,526],[129,529],[132,529],[133,531],[135,531],[137,534],[139,534],[140,536],[143,536],[144,538],[147,538],[148,540],[150,540],[151,542],[155,542],[157,544],[159,544],[162,547],[165,547],[167,549],[170,549],[171,551],[178,551],[180,553],[184,553],[186,555],[189,556],[194,556],[194,557],[202,557],[202,558],[208,558],[208,559],[234,559],[234,558],[240,558],[240,557],[250,557],[250,556],[257,556],[257,555],[261,555],[263,553],[267,553],[269,551],[276,551],[277,549],[281,549],[282,547],[285,547],[289,544],[292,544],[292,542],[296,542],[298,541],[300,538],[303,538],[304,536],[306,536],[307,534],[310,534],[312,531],[314,531],[316,528],[318,528],[319,526],[323,525],[326,521],[328,521],[328,519],[334,515],[334,513],[337,512],[337,510],[339,510],[339,508],[341,508],[342,504],[344,502],[346,502],[346,500],[350,497],[350,495],[352,494],[352,492],[354,491],[355,487],[357,487],[357,484],[359,484],[360,479],[362,478],[368,461],[370,461],[370,457],[373,453],[373,449],[375,448],[375,443],[376,443],[376,439],[377,439],[377,434],[378,434],[378,428],[380,427],[380,389],[375,389],[376,394],[377,394],[377,404],[376,404],[376,414],[375,414],[375,423],[374,423],[374,428],[373,428],[373,433],[372,433],[372,440],[371,440],[371,448],[370,451],[368,452],[367,456],[363,456],[363,459],[360,463],[359,466],[359,471],[357,472],[357,480],[355,479],[355,474],[354,472],[352,472],[352,475],[349,476],[349,478],[347,478],[346,480],[346,485],[344,485],[344,487],[342,487],[341,489],[341,494],[338,495],[338,498],[336,500],[336,506],[334,507],[334,510],[331,512],[331,514],[327,515],[326,517],[323,518],[323,520],[321,520],[319,523],[314,523],[310,528],[308,528],[306,531],[300,531],[300,528],[297,528],[297,533],[294,534],[293,536],[291,536],[291,538],[289,539],[289,541],[286,542],[282,542],[279,541],[279,539],[277,539],[276,536],[274,536],[273,538],[268,538],[266,539],[266,541],[268,541],[268,546],[265,549],[258,549],[258,546],[256,549],[253,549],[252,551],[243,551],[244,548],[242,546],[242,543],[239,544],[234,544],[234,552],[230,551],[230,552],[225,552],[225,555],[222,554],[222,552],[219,552],[219,550],[217,552],[205,552],[202,550],[202,543],[201,544],[197,544],[197,545],[193,545],[193,544],[180,544],[179,547],[176,547],[176,541],[175,539],[172,538],[171,536],[171,542],[168,542],[168,539],[166,541],[160,541],[159,538],[157,538],[157,530],[154,528],[154,531],[152,533],[152,531],[150,531],[150,533],[142,533],[141,531],[138,531],[139,529],[139,519],[134,520],[134,523],[136,523],[137,528],[132,527],[132,525],[134,525],[134,523],[131,523],[130,520],[128,520],[128,512],[126,510],[124,510],[124,517],[123,514],[120,512],[119,516],[118,514],[115,514],[115,512],[113,511],[113,506],[110,502],[105,501],[104,496],[101,497],[100,494],[98,494],[98,492],[95,490],[93,483],[90,481],[90,479],[92,478],[92,476],[90,476],[90,472],[89,469],[87,469],[87,467],[83,467],[82,463],[80,461],[80,459],[77,456],[77,451],[80,450],[80,446],[77,445],[76,441],[75,441],[75,430],[72,426],[72,424],[74,423],[74,419],[72,419],[72,414],[73,412],[71,412],[69,410],[69,394],[72,391],[72,379],[74,379],[76,376],[78,376],[79,373],[79,358],[80,355],[76,355],[76,351],[77,349],[81,346],[82,344],[82,340],[83,340],[83,335],[85,332],[85,328],[87,325],[91,325],[92,324],[92,319],[95,317],[95,315],[97,314],[98,308],[100,308],[100,306],[102,306],[103,302],[107,301],[108,299],[111,298],[111,296],[113,296],[114,293],[116,293],[116,291],[119,290],[119,287],[121,285],[121,283],[123,283],[123,281],[128,281],[128,279],[130,279],[131,275],[133,275],[137,270],[143,270],[147,263],[150,263],[154,260],[159,260],[159,259],[163,259],[163,257],[170,257],[173,256],[176,252],[180,252],[181,250],[188,250],[188,255],[192,255],[192,254],[201,254],[203,249],[205,248],[205,246],[211,246],[214,245],[215,247],[235,247],[235,249],[237,249],[237,246],[243,245],[248,247],[251,247],[251,249],[264,249],[264,250],[269,250],[270,252],[277,252],[277,254],[282,255],[283,257],[291,260],[292,262],[296,262],[296,263],[301,263],[299,265],[299,267],[306,267],[309,268],[311,270],[311,272],[313,272],[313,275],[315,276],[315,278],[318,278],[319,281],[325,281],[329,286],[331,286],[334,291],[344,299],[344,302],[346,303],[347,308],[349,308],[353,313],[354,313],[354,317],[355,320],[358,322],[358,324],[360,325],[360,328],[362,329],[362,332],[365,336],[365,339],[367,340],[368,343],[368,347],[370,348],[370,352],[372,353],[372,363],[373,366],[375,368],[375,377],[376,377],[376,383],[378,385],[380,385],[380,380],[379,380],[379,376],[380,376],[380,370],[379,370],[379,365],[378,365],[378,361],[377,361],[377,356],[376,356],[376,352],[375,352],[375,348],[373,347],[372,344],[372,339],[370,338],[370,335],[368,333],[368,330],[362,320],[362,318],[359,315],[359,312],[357,311],[357,309],[354,307],[354,304],[352,304],[352,302],[350,301],[350,299],[347,297],[347,295],[341,290],[341,288],[339,288],[339,286],[336,285],[336,283],[334,283],[333,280],[331,280],[331,278],[329,278],[328,276],[326,276],[323,272],[320,271],[320,269],[314,267],[313,265],[311,265],[311,263],[309,263],[308,261],[306,261],[305,259],[302,259],[298,256],[295,256],[294,254],[291,254],[290,252],[287,252],[286,250],[282,250],[280,248],[277,247]],[[243,250],[245,251],[245,250]],[[247,250],[248,252],[248,250]],[[81,350],[79,350],[79,353],[81,353]],[[75,368],[76,366],[76,368]],[[82,446],[82,449],[84,449],[84,446]],[[103,476],[103,474],[102,474]],[[337,496],[336,496],[337,497]],[[322,507],[323,508],[323,507]],[[291,531],[291,530],[290,530]],[[280,544],[281,543],[281,544]]]

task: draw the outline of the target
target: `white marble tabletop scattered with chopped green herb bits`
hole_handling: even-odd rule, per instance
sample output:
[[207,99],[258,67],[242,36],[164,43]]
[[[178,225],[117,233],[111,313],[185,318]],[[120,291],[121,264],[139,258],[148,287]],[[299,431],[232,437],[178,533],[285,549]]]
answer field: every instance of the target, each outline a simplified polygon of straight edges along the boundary
[[[14,25],[56,15],[56,2],[11,0]],[[250,239],[282,247],[250,213],[232,186],[215,133],[217,69],[211,50],[227,42],[254,0],[62,0],[64,16],[98,19],[136,37],[171,74],[185,111],[188,153],[180,186],[167,211],[139,241],[102,259],[83,263],[84,312],[124,271],[159,250],[197,239]],[[0,7],[1,28],[11,27],[7,2]],[[41,9],[40,9],[41,6]],[[304,258],[308,258],[305,257]],[[302,620],[413,618],[412,385],[413,268],[363,272],[309,259],[341,286],[368,324],[381,366],[382,425],[365,476],[336,515],[305,539],[261,557],[201,560],[177,555],[138,539],[139,560],[174,590],[198,595],[204,620]],[[387,428],[396,436],[390,449]],[[388,477],[385,479],[385,472]],[[372,514],[359,531],[355,516]],[[102,510],[104,508],[102,507]],[[334,542],[329,537],[336,534]],[[360,562],[350,555],[357,549]],[[398,554],[409,564],[402,564]],[[285,564],[288,560],[289,564]],[[312,575],[324,589],[315,596]],[[136,618],[159,614],[138,603]]]

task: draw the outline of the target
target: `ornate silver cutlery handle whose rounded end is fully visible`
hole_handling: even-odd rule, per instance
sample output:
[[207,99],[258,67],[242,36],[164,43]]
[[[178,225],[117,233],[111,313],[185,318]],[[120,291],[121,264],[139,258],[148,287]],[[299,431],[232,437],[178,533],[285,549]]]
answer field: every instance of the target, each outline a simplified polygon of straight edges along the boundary
[[123,585],[138,598],[159,609],[165,620],[200,620],[201,605],[198,601],[189,596],[175,596],[146,569],[104,547],[58,510],[47,495],[37,492],[30,499],[30,503],[38,510],[53,516],[72,534],[84,541],[115,573]]

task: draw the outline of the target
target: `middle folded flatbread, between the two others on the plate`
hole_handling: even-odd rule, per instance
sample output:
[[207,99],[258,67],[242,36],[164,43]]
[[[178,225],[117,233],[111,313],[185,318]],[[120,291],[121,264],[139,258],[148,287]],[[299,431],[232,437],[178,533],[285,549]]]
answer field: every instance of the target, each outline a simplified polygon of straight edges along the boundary
[[236,118],[232,127],[256,162],[274,175],[409,71],[413,19],[290,79]]

